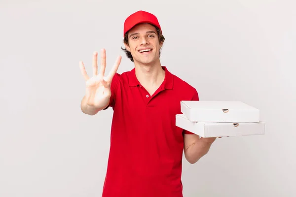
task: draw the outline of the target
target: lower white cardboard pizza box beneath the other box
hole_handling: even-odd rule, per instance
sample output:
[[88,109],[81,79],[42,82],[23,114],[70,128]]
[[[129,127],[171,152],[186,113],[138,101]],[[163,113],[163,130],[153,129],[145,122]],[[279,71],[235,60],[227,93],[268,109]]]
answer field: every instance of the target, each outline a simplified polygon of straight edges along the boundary
[[201,137],[259,135],[265,132],[265,122],[261,121],[258,123],[191,122],[184,114],[176,115],[176,126]]

